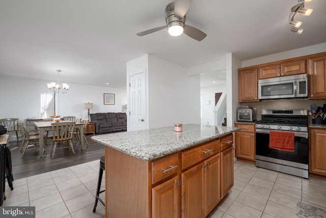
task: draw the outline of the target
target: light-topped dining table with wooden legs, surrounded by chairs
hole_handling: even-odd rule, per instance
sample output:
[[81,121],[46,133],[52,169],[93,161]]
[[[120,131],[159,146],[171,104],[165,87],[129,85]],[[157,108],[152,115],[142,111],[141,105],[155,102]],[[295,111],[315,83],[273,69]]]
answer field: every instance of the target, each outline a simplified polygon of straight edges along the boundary
[[[60,123],[70,122],[70,121],[61,121]],[[43,157],[43,152],[46,150],[46,145],[44,144],[44,133],[45,131],[51,131],[53,122],[35,122],[35,127],[40,131],[40,158]],[[84,150],[84,124],[83,123],[75,123],[74,128],[79,128],[79,138],[80,138],[80,148]],[[45,156],[44,156],[45,157]]]

